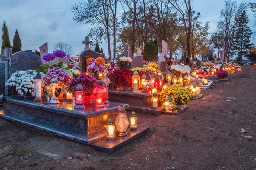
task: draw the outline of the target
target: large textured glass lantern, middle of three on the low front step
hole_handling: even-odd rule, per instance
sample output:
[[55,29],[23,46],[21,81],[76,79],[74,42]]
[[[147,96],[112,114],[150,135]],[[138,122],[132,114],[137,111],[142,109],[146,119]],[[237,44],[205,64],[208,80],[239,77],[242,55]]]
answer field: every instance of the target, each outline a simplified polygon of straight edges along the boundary
[[117,117],[116,117],[116,128],[118,130],[117,136],[126,136],[126,129],[129,125],[128,118],[126,116],[125,107],[120,105],[117,109]]

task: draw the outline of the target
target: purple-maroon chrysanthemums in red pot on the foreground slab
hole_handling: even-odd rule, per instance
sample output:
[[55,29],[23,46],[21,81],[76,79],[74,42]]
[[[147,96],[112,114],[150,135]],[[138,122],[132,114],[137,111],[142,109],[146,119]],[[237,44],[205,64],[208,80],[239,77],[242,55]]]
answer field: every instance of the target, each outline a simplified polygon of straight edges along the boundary
[[66,84],[66,90],[73,95],[76,92],[77,86],[81,84],[84,91],[84,105],[90,105],[92,103],[92,91],[96,87],[96,78],[90,76],[90,74],[80,74],[78,78],[71,79],[71,82]]

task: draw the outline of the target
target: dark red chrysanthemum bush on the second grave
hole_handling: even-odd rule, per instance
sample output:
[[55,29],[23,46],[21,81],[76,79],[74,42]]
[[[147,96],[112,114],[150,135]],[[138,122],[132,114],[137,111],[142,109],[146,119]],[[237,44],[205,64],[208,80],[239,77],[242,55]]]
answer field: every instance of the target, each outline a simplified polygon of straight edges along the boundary
[[127,68],[120,68],[120,69],[114,70],[113,73],[111,73],[108,78],[111,80],[111,82],[113,82],[114,85],[123,86],[125,88],[126,86],[131,86],[132,75],[133,75],[133,71]]

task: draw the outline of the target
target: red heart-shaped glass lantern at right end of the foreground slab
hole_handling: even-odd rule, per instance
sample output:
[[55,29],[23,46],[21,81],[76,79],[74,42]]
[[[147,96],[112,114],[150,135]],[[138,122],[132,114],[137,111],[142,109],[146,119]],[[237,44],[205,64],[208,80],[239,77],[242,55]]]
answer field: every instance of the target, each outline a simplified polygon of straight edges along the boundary
[[95,108],[104,108],[104,102],[108,99],[108,89],[103,85],[102,79],[99,79],[96,88],[92,91],[92,98],[95,102]]

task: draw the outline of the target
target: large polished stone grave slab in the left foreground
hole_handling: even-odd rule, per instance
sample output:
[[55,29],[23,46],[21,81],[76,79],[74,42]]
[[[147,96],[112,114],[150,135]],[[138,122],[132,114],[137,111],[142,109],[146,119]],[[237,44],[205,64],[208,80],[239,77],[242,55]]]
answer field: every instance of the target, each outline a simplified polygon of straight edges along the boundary
[[[67,102],[50,105],[33,99],[7,97],[3,103],[4,114],[0,114],[0,118],[83,144],[105,138],[108,118],[115,121],[117,109],[122,104],[108,102],[105,108],[94,108],[93,103],[79,111],[73,109],[74,103]],[[123,105],[128,109],[128,104]]]

